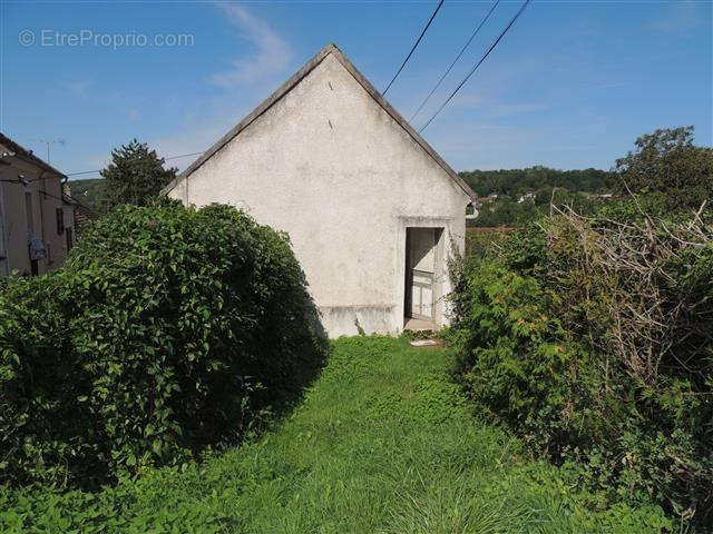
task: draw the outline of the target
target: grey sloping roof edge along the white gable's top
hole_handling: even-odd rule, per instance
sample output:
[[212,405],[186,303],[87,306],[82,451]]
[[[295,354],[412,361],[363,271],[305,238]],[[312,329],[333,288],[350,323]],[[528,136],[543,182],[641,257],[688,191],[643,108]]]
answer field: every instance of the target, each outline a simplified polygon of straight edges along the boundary
[[346,71],[352,75],[352,77],[356,80],[356,82],[364,88],[364,90],[371,96],[381,108],[389,113],[389,116],[397,121],[401,128],[406,130],[406,132],[419,145],[438,165],[441,167],[448,176],[456,182],[460,189],[468,196],[471,200],[478,198],[476,192],[470,188],[470,186],[460,177],[458,172],[456,172],[445,160],[441,158],[438,152],[431,147],[421,135],[411,127],[411,125],[399,113],[393,106],[391,106],[387,99],[371,85],[371,82],[362,75],[356,67],[346,58],[344,52],[342,52],[334,43],[330,42],[324,46],[316,55],[312,57],[304,66],[295,72],[287,81],[285,81],[282,86],[280,86],[275,91],[272,92],[262,103],[260,103],[251,113],[248,113],[243,120],[241,120],[235,127],[233,127],[226,135],[224,135],[221,139],[218,139],[211,148],[208,148],[203,155],[196,159],[193,164],[191,164],[183,172],[180,172],[176,178],[174,178],[164,189],[162,189],[162,195],[167,195],[185,178],[187,179],[191,174],[193,174],[198,167],[201,167],[204,162],[206,162],[215,152],[221,150],[225,145],[227,145],[233,138],[235,138],[241,131],[247,128],[255,119],[262,116],[265,111],[267,111],[274,103],[276,103],[283,96],[290,92],[303,78],[305,78],[315,67],[318,67],[324,58],[326,58],[330,53],[333,53],[336,60],[346,69]]

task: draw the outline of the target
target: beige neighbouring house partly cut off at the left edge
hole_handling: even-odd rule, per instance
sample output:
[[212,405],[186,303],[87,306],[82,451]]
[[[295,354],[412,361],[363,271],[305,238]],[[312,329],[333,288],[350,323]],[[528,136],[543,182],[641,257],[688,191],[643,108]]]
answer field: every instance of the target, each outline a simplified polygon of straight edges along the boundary
[[67,177],[0,134],[0,276],[59,267],[75,239]]

